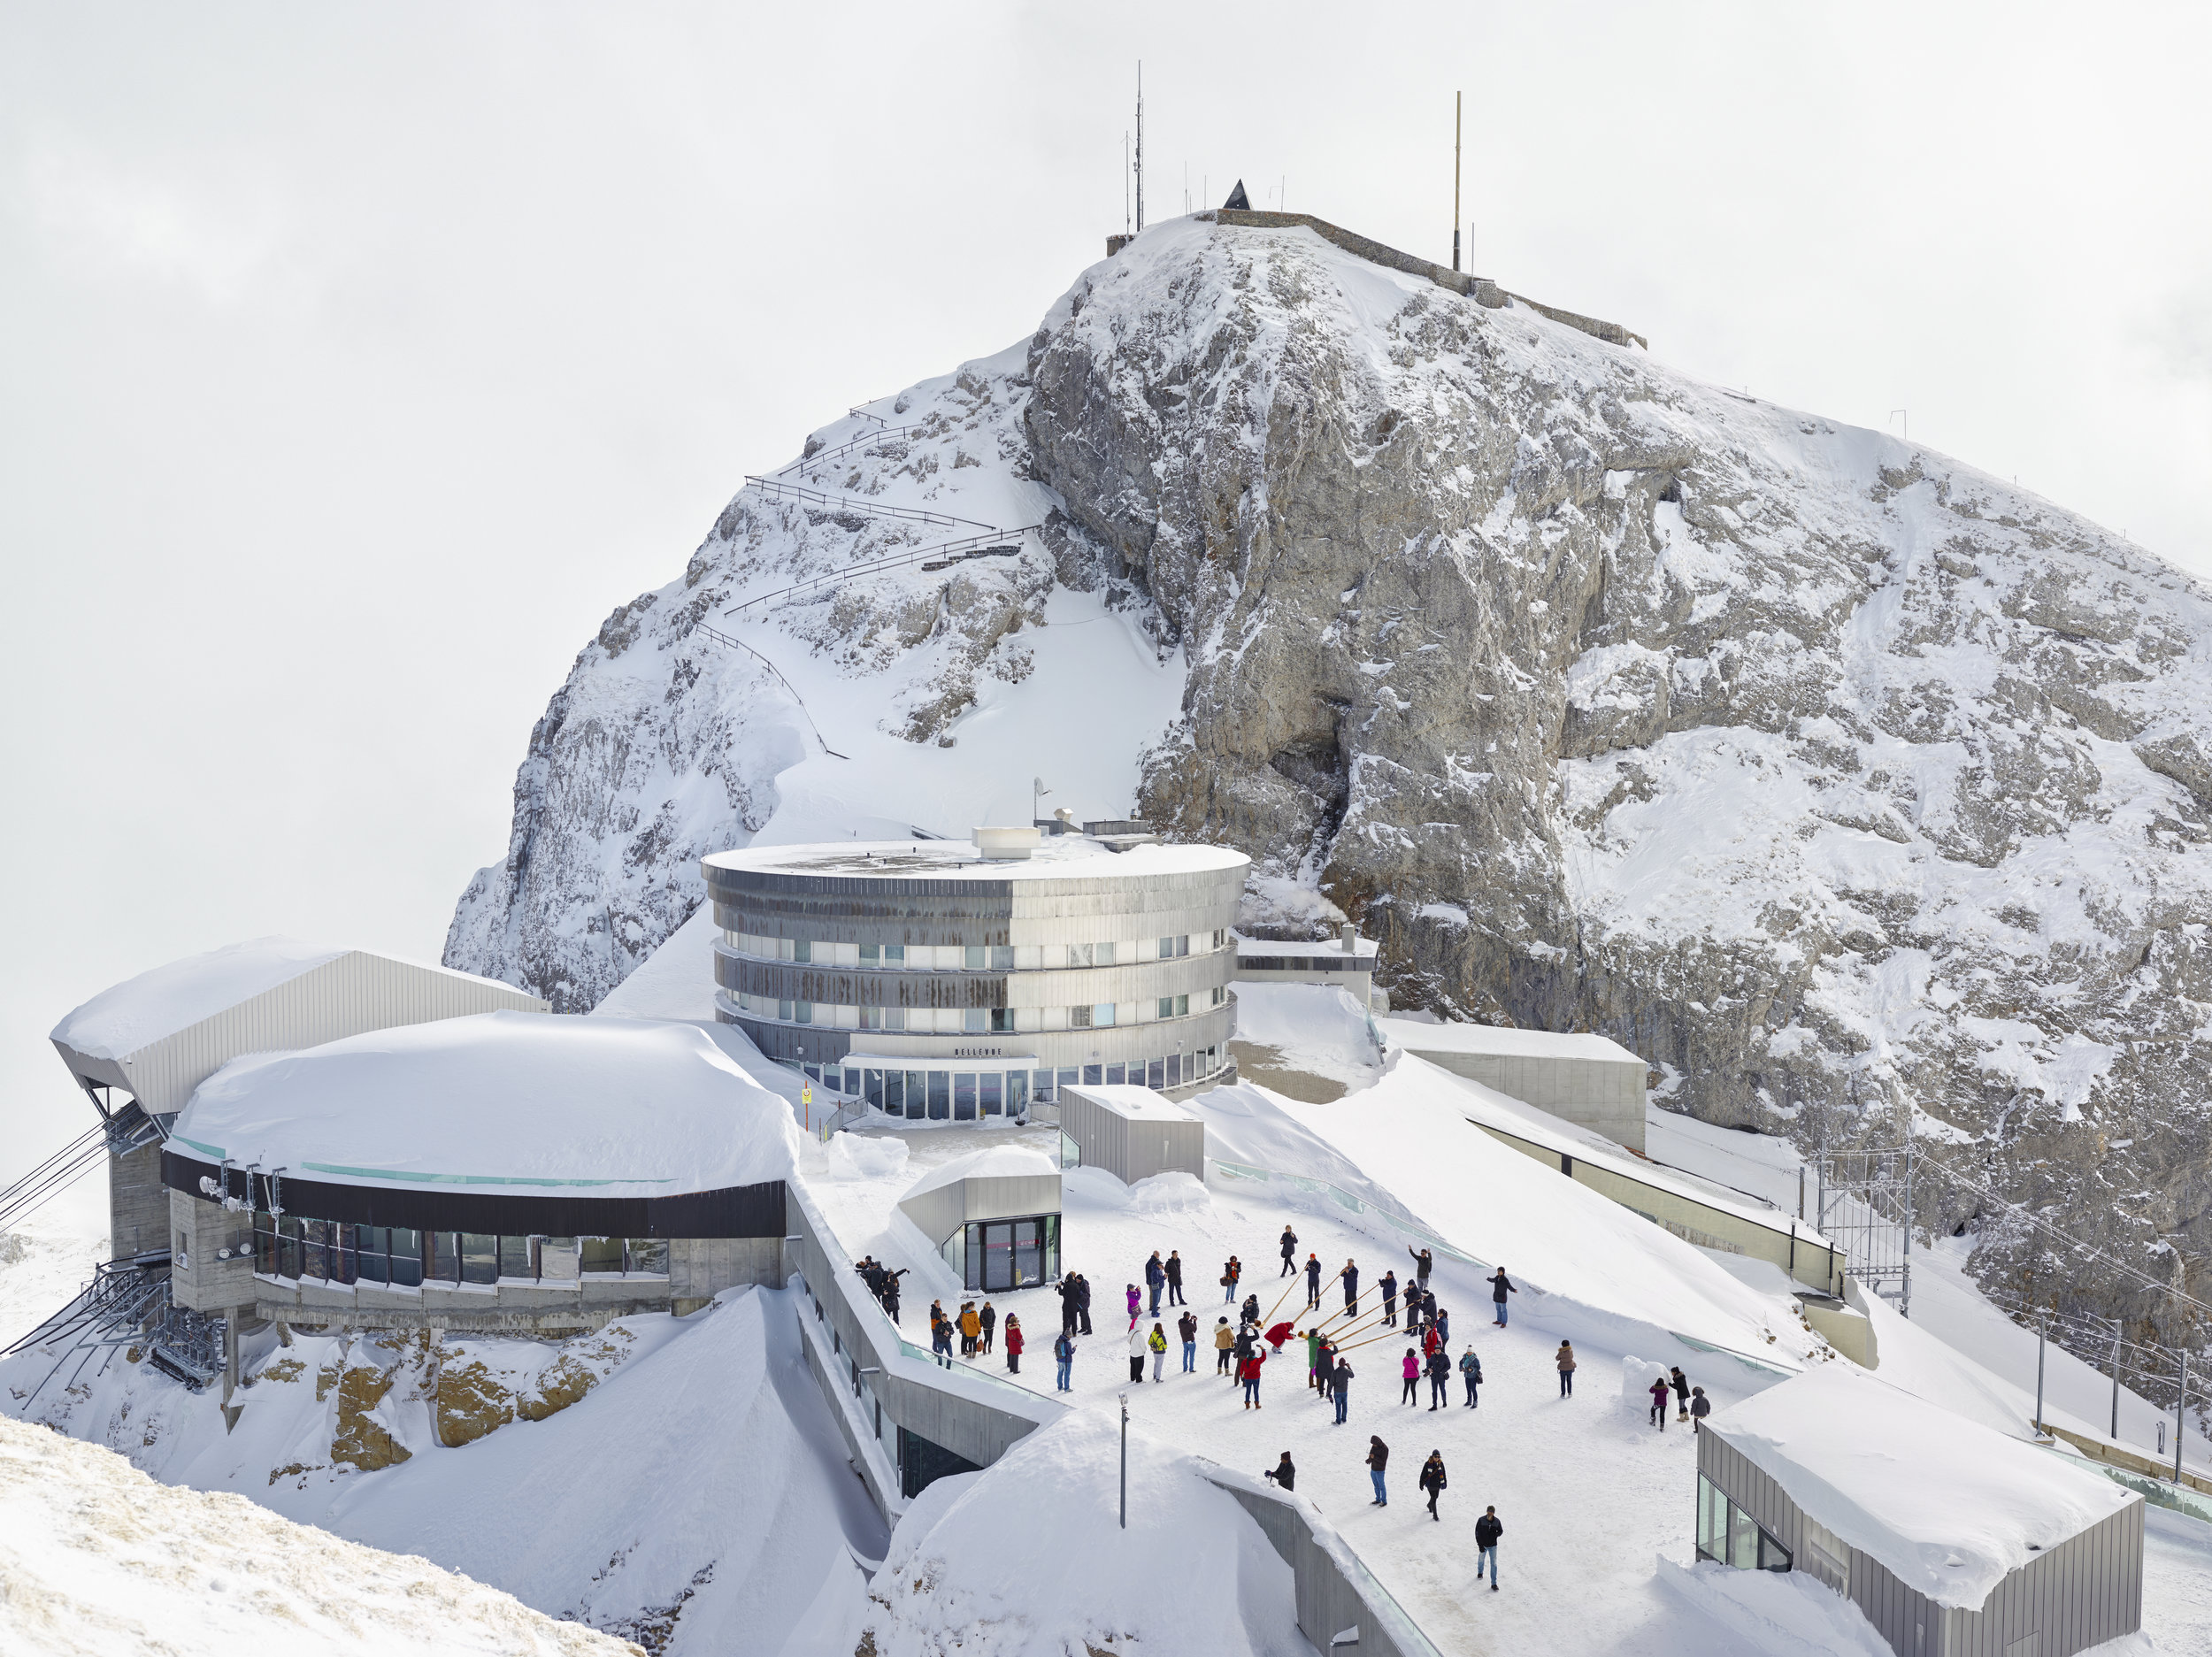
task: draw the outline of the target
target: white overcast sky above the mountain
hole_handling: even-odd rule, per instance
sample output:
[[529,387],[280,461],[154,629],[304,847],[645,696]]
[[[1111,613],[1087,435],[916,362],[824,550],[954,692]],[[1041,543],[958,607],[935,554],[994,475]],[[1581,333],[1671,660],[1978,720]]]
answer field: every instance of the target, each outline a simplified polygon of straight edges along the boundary
[[[1183,177],[1911,436],[2212,575],[2205,7],[0,2],[0,1181],[44,1033],[436,958],[533,719],[745,471]],[[1902,423],[1900,423],[1902,425]]]

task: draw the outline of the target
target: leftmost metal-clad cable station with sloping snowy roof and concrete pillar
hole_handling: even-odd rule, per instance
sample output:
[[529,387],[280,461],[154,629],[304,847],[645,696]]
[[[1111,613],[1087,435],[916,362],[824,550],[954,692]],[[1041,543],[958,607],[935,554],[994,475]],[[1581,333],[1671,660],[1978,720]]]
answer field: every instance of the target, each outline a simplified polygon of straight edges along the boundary
[[108,1124],[115,1257],[168,1248],[159,1135],[230,1060],[495,1011],[542,1013],[546,1002],[447,967],[292,938],[254,938],[104,989],[55,1024],[53,1046]]

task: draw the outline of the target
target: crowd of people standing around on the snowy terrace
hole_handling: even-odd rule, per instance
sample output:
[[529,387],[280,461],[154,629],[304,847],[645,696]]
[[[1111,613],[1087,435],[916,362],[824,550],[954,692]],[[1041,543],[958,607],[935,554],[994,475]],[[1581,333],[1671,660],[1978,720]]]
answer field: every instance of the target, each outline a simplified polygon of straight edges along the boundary
[[[1433,1257],[1427,1248],[1409,1248],[1407,1254],[1411,1265],[1405,1279],[1398,1276],[1396,1265],[1387,1265],[1380,1276],[1371,1279],[1363,1288],[1363,1272],[1356,1259],[1347,1259],[1340,1268],[1325,1268],[1318,1252],[1307,1252],[1305,1261],[1298,1261],[1298,1234],[1292,1226],[1283,1228],[1283,1237],[1276,1241],[1281,1254],[1281,1272],[1276,1281],[1290,1279],[1290,1285],[1276,1296],[1274,1307],[1261,1310],[1261,1296],[1256,1292],[1245,1292],[1239,1301],[1239,1290],[1243,1288],[1243,1261],[1230,1254],[1221,1263],[1221,1301],[1234,1307],[1234,1321],[1230,1316],[1217,1316],[1212,1327],[1214,1347],[1214,1374],[1225,1376],[1232,1389],[1241,1394],[1243,1409],[1261,1409],[1261,1374],[1270,1363],[1281,1361],[1285,1349],[1303,1352],[1305,1356],[1305,1389],[1314,1394],[1323,1405],[1334,1409],[1334,1425],[1345,1425],[1352,1409],[1352,1385],[1358,1378],[1352,1365],[1352,1352],[1358,1347],[1376,1345],[1383,1341],[1405,1341],[1398,1358],[1398,1374],[1402,1380],[1398,1403],[1420,1407],[1422,1380],[1427,1380],[1429,1409],[1478,1409],[1482,1398],[1482,1358],[1475,1354],[1471,1341],[1462,1343],[1458,1358],[1451,1356],[1451,1310],[1438,1305],[1436,1292],[1429,1288],[1429,1276],[1433,1272]],[[898,1321],[898,1279],[905,1274],[887,1270],[874,1259],[863,1259],[856,1268],[867,1283],[869,1292],[883,1303],[891,1321]],[[1141,1285],[1128,1283],[1124,1288],[1121,1301],[1128,1316],[1126,1330],[1126,1356],[1128,1356],[1128,1380],[1130,1385],[1146,1383],[1146,1369],[1150,1369],[1152,1383],[1166,1380],[1168,1354],[1179,1349],[1181,1369],[1179,1374],[1197,1374],[1199,1367],[1199,1314],[1190,1310],[1183,1299],[1183,1257],[1179,1250],[1168,1250],[1161,1257],[1152,1250],[1152,1257],[1144,1263]],[[1336,1290],[1343,1303],[1334,1310],[1323,1305],[1323,1283],[1325,1279],[1336,1281]],[[1283,1301],[1298,1292],[1303,1285],[1305,1301],[1296,1316],[1283,1316]],[[1509,1323],[1509,1296],[1520,1294],[1520,1288],[1506,1276],[1500,1265],[1489,1276],[1491,1290],[1491,1327],[1502,1330]],[[1077,1338],[1093,1334],[1091,1323],[1091,1279],[1082,1272],[1066,1272],[1057,1283],[1060,1294],[1060,1336],[1053,1341],[1053,1363],[1055,1363],[1055,1389],[1073,1392],[1073,1367],[1077,1354]],[[1181,1307],[1181,1316],[1172,1323],[1172,1334],[1168,1325],[1168,1312]],[[1402,1323],[1400,1323],[1402,1314]],[[1305,1327],[1298,1327],[1298,1321]],[[989,1356],[995,1345],[1004,1345],[1006,1367],[1020,1372],[1022,1354],[1022,1330],[1020,1319],[1009,1314],[1004,1325],[1000,1325],[998,1312],[991,1301],[962,1301],[958,1314],[947,1316],[940,1301],[929,1303],[929,1338],[931,1354],[942,1365],[953,1361],[953,1341],[960,1345],[960,1356],[975,1361],[978,1356]],[[1559,1376],[1559,1398],[1575,1396],[1575,1345],[1573,1341],[1562,1341],[1559,1349],[1553,1354],[1553,1367]],[[1458,1374],[1464,1396],[1453,1403],[1451,1378]],[[1681,1365],[1672,1367],[1663,1378],[1650,1385],[1650,1425],[1666,1431],[1666,1418],[1672,1414],[1681,1422],[1690,1422],[1692,1431],[1703,1429],[1705,1416],[1712,1411],[1712,1403],[1705,1398],[1703,1387],[1690,1385],[1690,1378],[1681,1372]],[[1387,1489],[1387,1467],[1389,1467],[1389,1445],[1383,1442],[1380,1434],[1369,1434],[1367,1438],[1367,1473],[1374,1480],[1374,1502],[1371,1507],[1389,1507]],[[1283,1451],[1281,1462],[1267,1469],[1267,1480],[1290,1491],[1296,1487],[1298,1469],[1292,1462],[1290,1451]],[[1447,1487],[1444,1453],[1431,1449],[1429,1458],[1420,1465],[1420,1476],[1416,1480],[1418,1489],[1427,1496],[1427,1511],[1431,1520],[1442,1520],[1438,1502]],[[1489,1507],[1482,1518],[1475,1520],[1475,1549],[1478,1566],[1475,1580],[1482,1580],[1486,1571],[1491,1577],[1491,1591],[1498,1591],[1498,1540],[1504,1535],[1504,1524],[1498,1520],[1498,1509]]]

